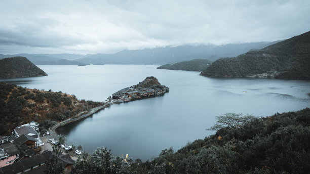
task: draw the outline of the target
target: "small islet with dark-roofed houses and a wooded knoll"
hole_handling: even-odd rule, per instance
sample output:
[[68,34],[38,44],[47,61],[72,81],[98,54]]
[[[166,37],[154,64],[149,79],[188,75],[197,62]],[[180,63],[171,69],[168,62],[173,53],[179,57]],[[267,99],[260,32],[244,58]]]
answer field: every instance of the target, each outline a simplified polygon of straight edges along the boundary
[[146,77],[142,82],[136,85],[124,88],[108,98],[114,103],[128,102],[146,97],[155,97],[169,92],[169,88],[161,85],[157,78],[150,76]]

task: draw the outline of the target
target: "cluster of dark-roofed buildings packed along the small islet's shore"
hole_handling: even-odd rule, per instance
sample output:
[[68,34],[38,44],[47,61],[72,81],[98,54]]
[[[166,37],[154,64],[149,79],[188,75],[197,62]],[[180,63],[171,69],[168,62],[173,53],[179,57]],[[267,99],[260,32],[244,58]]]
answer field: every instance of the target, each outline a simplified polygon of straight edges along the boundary
[[133,86],[124,88],[114,94],[112,94],[112,99],[114,100],[119,100],[123,99],[124,97],[128,96],[131,98],[133,95],[136,96],[136,98],[141,98],[141,97],[150,97],[150,96],[156,96],[160,94],[166,93],[166,89],[161,89],[161,88],[140,88],[140,89],[135,89]]

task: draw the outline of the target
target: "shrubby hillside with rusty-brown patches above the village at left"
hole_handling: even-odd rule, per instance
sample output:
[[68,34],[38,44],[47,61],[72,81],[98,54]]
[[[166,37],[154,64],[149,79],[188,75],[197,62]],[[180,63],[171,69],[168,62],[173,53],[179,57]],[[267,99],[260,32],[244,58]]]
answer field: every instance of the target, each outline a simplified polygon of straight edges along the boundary
[[16,126],[36,121],[41,132],[57,121],[102,105],[101,102],[78,100],[74,95],[0,82],[0,135],[9,135]]

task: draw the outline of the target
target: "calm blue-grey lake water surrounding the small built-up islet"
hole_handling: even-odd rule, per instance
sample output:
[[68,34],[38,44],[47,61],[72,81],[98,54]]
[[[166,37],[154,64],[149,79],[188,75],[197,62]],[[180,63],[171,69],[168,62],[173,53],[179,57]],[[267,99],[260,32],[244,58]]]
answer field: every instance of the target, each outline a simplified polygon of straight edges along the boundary
[[310,81],[209,78],[199,72],[145,65],[38,67],[49,75],[5,81],[93,101],[105,101],[114,92],[151,75],[169,86],[170,92],[164,96],[112,105],[57,130],[69,144],[82,144],[90,153],[106,146],[114,155],[151,159],[164,148],[178,150],[187,142],[213,134],[206,128],[214,124],[216,115],[234,112],[268,116],[310,106]]

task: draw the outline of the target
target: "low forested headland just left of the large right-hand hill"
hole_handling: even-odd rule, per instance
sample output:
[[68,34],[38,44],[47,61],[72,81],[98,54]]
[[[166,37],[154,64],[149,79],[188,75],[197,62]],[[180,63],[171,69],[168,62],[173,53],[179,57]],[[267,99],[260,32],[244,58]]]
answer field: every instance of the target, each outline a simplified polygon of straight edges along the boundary
[[206,59],[194,59],[190,61],[178,62],[175,64],[166,64],[157,67],[157,69],[183,70],[183,71],[203,71],[212,61]]

